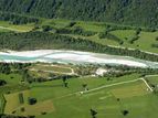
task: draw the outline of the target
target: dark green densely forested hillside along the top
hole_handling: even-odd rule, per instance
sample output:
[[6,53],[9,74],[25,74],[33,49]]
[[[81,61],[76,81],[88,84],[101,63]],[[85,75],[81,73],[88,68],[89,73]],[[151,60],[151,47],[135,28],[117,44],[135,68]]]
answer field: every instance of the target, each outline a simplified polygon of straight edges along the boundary
[[0,11],[158,28],[158,0],[0,0]]

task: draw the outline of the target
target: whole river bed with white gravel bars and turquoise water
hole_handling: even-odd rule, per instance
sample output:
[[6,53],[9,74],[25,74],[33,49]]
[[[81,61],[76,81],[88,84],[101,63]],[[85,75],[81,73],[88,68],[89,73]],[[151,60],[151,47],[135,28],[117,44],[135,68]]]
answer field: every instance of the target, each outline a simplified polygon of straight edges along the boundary
[[127,65],[136,67],[158,68],[158,62],[143,61],[134,57],[107,55],[99,53],[63,51],[63,50],[36,50],[14,52],[0,52],[0,62],[7,63],[74,63],[74,64],[109,64],[109,65]]

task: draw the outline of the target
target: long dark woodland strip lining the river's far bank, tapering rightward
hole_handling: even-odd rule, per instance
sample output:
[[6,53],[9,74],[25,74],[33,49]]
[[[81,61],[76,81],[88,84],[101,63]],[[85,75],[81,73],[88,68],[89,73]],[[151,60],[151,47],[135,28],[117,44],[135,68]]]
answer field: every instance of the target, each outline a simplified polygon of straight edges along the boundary
[[76,50],[133,56],[141,60],[158,62],[158,55],[145,53],[139,50],[110,47],[81,37],[75,39],[67,35],[38,31],[27,33],[0,33],[0,47],[17,51],[40,49]]

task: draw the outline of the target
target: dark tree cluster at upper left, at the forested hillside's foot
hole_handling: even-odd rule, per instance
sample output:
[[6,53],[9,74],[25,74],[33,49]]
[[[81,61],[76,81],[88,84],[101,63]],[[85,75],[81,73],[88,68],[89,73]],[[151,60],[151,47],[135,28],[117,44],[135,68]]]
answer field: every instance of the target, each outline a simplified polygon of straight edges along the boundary
[[19,15],[14,13],[0,12],[0,20],[10,21],[12,24],[27,24],[27,23],[38,23],[39,19]]

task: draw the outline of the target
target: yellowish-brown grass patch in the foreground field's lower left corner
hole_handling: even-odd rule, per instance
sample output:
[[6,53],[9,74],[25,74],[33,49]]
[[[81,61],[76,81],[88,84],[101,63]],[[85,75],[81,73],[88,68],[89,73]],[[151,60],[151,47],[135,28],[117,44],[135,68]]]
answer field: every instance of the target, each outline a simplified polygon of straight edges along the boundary
[[[23,104],[20,103],[19,94],[22,94],[23,96]],[[7,101],[4,114],[18,116],[39,116],[44,112],[52,112],[54,110],[52,100],[41,101],[35,105],[29,105],[29,97],[30,90],[4,95]],[[24,110],[21,110],[22,108]]]

